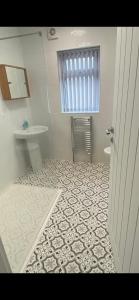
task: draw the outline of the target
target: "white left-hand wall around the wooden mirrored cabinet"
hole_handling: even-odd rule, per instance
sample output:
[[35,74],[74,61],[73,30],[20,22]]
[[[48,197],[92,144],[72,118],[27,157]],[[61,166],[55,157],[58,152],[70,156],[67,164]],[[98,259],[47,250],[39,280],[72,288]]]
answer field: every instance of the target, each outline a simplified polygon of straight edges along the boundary
[[[0,37],[19,34],[15,27],[0,27]],[[24,67],[20,39],[0,41],[0,64]],[[4,101],[0,91],[0,191],[24,173],[28,157],[13,132],[24,119],[31,122],[29,100]]]

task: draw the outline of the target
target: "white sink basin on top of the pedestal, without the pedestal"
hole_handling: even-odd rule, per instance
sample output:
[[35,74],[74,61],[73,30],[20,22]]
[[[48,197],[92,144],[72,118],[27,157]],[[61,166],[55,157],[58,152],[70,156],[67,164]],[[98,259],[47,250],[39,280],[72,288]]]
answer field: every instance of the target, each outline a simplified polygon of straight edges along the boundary
[[15,137],[18,139],[29,139],[31,137],[35,137],[46,131],[48,131],[47,126],[34,125],[34,126],[28,127],[27,129],[15,130],[14,134],[15,134]]

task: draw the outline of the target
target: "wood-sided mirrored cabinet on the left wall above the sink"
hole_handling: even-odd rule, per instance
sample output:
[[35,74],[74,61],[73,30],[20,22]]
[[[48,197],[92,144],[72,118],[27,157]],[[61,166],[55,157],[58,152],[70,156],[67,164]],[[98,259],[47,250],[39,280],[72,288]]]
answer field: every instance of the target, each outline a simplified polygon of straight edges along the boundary
[[0,88],[4,100],[29,98],[30,91],[26,69],[1,64]]

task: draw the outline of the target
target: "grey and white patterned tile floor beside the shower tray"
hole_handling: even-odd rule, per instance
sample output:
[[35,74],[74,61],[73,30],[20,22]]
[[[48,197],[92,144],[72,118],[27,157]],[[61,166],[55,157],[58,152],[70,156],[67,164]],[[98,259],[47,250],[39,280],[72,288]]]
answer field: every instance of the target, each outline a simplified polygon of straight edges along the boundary
[[47,160],[17,183],[62,188],[26,273],[114,273],[107,231],[109,167]]

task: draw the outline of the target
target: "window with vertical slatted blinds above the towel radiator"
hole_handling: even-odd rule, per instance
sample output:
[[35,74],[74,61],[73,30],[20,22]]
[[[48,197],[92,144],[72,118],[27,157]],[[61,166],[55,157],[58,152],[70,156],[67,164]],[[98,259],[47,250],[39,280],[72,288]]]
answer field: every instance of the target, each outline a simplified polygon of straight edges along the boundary
[[62,112],[99,111],[100,48],[58,51]]

